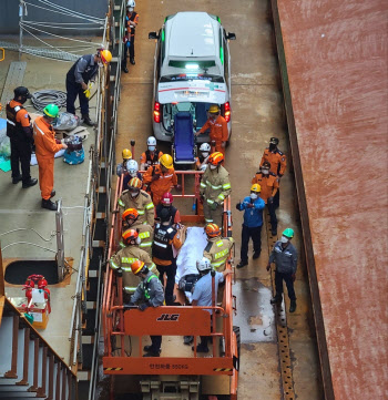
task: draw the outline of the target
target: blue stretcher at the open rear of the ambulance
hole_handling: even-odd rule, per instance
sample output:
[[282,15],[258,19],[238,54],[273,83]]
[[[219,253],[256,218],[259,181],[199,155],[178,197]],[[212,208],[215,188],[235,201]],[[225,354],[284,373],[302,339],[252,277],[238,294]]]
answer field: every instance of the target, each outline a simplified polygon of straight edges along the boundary
[[175,164],[194,164],[196,157],[193,115],[180,111],[174,116],[173,158]]

